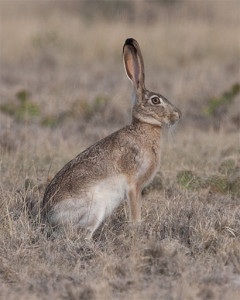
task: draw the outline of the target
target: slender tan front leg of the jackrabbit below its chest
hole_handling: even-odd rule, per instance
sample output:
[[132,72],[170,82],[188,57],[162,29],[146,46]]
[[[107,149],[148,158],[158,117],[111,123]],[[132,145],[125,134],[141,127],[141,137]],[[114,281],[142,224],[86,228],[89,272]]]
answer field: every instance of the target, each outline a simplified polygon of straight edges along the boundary
[[129,215],[131,222],[141,222],[141,190],[131,188],[128,192]]

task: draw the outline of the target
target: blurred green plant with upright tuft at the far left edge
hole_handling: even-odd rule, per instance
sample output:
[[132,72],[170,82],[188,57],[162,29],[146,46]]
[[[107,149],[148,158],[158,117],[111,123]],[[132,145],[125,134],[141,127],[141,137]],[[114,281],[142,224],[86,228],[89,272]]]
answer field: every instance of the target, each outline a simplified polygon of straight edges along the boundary
[[25,121],[29,117],[39,116],[40,109],[37,104],[29,100],[30,93],[21,90],[16,94],[18,103],[4,103],[0,106],[0,110],[5,114],[13,116],[17,121]]

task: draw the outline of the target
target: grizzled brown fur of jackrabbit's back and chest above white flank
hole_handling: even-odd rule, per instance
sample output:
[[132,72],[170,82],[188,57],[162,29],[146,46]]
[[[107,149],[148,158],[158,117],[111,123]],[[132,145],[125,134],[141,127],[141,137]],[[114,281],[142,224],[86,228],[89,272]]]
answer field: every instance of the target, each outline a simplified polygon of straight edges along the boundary
[[[127,174],[129,182],[136,181],[137,190],[142,189],[159,166],[160,135],[160,127],[136,120],[77,155],[48,185],[43,198],[44,213],[57,202],[78,195],[88,188],[89,183],[97,182],[105,176]],[[143,148],[142,145],[146,142],[147,148]],[[154,155],[154,160],[145,174],[135,178],[134,175],[141,167],[143,155]],[[119,159],[116,160],[116,157]],[[112,164],[109,165],[108,161]]]

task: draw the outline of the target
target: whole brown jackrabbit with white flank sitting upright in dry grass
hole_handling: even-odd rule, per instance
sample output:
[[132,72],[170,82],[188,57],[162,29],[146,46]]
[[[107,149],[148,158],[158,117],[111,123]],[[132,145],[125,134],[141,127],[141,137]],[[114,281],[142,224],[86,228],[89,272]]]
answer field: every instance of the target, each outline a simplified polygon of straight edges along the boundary
[[123,62],[134,90],[131,124],[68,162],[43,199],[43,216],[52,226],[72,224],[86,229],[88,238],[124,199],[130,220],[141,220],[141,191],[159,168],[162,126],[181,117],[165,97],[145,88],[142,54],[132,38],[123,46]]

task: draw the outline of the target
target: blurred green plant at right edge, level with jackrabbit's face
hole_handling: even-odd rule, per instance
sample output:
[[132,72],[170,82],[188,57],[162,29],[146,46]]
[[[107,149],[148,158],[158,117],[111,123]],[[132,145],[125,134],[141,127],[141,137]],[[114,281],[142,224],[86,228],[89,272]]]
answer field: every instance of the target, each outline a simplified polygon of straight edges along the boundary
[[239,91],[240,84],[236,83],[229,91],[224,92],[221,96],[210,98],[207,107],[204,109],[204,114],[206,116],[216,115],[219,108],[229,105],[233,102]]

